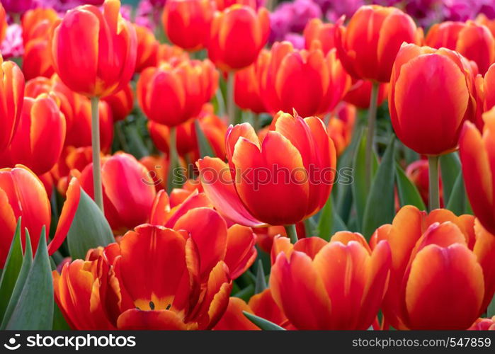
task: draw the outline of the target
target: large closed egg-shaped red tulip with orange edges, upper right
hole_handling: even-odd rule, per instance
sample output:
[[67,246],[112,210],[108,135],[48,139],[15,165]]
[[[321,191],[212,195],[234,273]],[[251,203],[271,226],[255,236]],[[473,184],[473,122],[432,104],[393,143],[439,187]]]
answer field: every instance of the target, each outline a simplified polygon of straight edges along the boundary
[[419,154],[457,149],[462,123],[475,119],[474,87],[470,64],[457,52],[403,45],[389,87],[397,137]]

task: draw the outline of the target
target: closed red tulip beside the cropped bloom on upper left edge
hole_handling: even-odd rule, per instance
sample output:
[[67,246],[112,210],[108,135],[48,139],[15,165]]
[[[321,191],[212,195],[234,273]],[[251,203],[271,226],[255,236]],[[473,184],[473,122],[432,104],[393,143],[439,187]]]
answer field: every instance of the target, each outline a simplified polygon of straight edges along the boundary
[[16,134],[6,152],[11,166],[23,164],[37,175],[50,171],[57,163],[65,142],[65,118],[56,96],[46,93],[24,98]]

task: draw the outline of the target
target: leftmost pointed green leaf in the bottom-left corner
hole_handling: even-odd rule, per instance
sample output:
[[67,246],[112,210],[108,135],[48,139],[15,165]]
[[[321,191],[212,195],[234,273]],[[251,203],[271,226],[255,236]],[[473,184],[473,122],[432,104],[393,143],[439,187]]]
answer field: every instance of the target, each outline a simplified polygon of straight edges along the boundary
[[8,301],[11,299],[13,287],[16,285],[23,264],[23,246],[21,244],[21,217],[16,232],[13,234],[11,248],[5,261],[4,271],[0,279],[0,320],[4,318]]

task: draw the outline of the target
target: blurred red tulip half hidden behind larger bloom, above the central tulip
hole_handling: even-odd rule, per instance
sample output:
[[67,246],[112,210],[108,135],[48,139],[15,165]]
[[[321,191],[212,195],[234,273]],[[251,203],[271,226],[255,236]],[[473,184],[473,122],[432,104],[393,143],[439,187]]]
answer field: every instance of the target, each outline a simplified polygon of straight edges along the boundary
[[240,108],[256,114],[266,112],[261,97],[259,73],[268,64],[269,57],[268,51],[262,50],[254,64],[235,73],[234,100]]

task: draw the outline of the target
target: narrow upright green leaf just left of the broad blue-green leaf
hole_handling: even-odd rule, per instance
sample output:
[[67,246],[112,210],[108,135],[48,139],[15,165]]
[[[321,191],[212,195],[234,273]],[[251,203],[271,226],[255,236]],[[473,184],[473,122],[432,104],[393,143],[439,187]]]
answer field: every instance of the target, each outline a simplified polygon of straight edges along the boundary
[[[356,149],[353,160],[353,184],[352,193],[355,204],[355,212],[358,217],[358,227],[363,224],[363,217],[365,215],[366,198],[368,196],[368,188],[366,187],[366,173],[365,173],[365,154],[366,154],[366,135],[364,130],[360,132],[360,142],[358,149]],[[372,175],[375,176],[377,171],[378,161],[375,154],[372,159]]]

